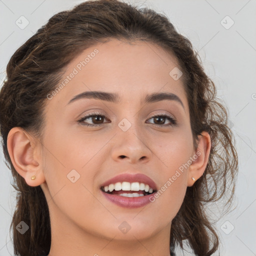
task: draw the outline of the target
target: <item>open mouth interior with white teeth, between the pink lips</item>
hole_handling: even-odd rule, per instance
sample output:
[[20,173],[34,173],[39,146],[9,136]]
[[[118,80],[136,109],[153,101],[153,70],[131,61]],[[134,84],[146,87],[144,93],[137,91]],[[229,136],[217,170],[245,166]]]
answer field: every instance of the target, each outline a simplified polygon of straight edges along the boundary
[[152,187],[143,182],[116,182],[100,187],[101,191],[107,194],[114,194],[125,197],[139,197],[154,193]]

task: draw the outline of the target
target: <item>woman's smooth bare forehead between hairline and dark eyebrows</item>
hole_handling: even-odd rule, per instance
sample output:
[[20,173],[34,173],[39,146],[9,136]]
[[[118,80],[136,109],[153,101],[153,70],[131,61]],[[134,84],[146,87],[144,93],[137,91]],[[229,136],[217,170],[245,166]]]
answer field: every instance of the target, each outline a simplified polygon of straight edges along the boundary
[[66,104],[73,95],[90,90],[118,93],[130,102],[165,91],[185,102],[178,70],[176,58],[154,43],[111,39],[85,49],[67,65],[51,103]]

